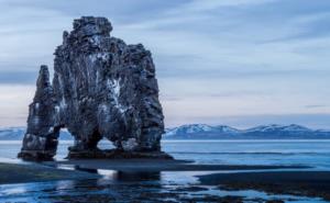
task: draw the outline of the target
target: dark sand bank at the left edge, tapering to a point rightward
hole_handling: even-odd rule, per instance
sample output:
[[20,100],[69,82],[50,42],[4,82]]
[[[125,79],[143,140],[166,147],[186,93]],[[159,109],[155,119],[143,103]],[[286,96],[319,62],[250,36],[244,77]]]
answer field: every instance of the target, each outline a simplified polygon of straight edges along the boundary
[[0,163],[0,184],[92,179],[99,177],[98,174],[88,172],[55,169],[36,163]]

